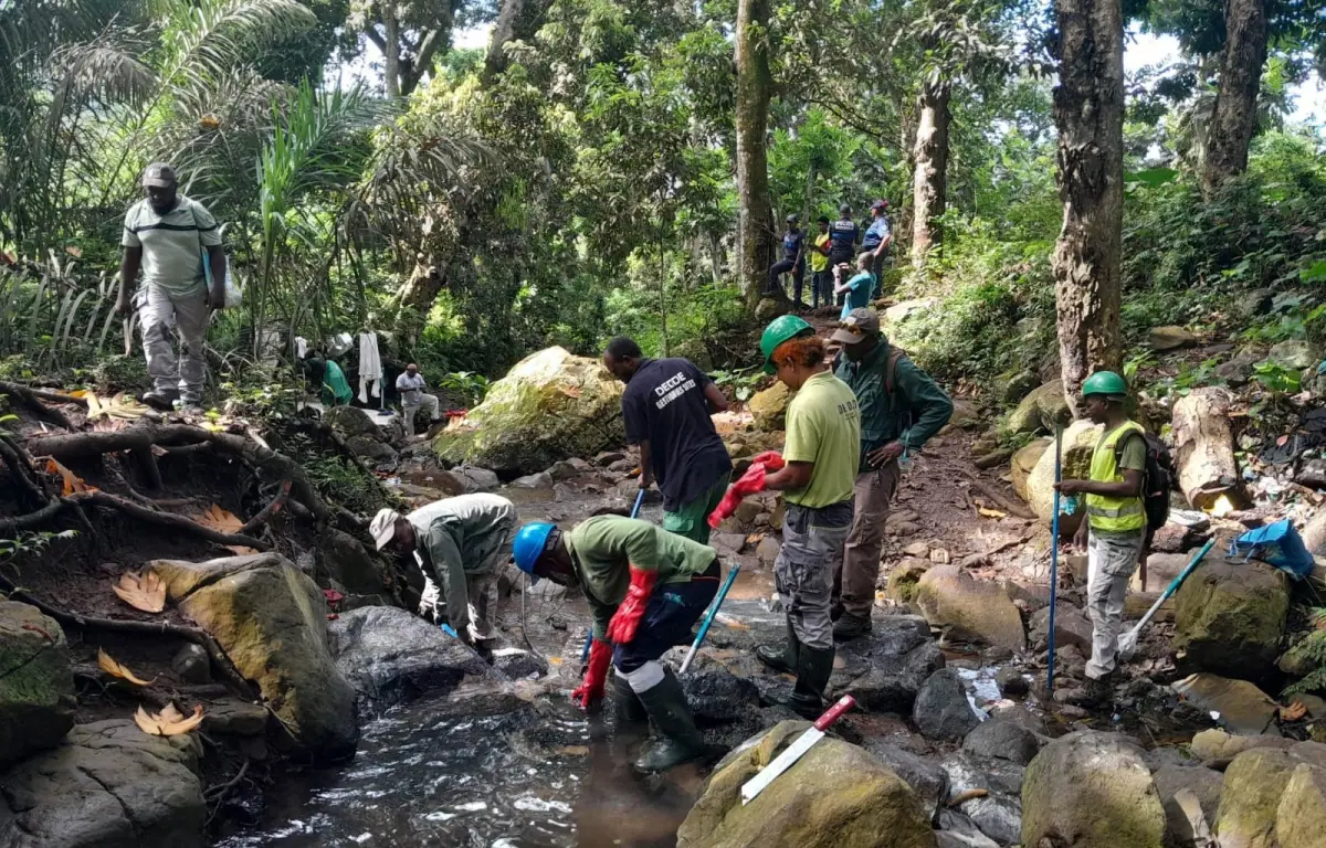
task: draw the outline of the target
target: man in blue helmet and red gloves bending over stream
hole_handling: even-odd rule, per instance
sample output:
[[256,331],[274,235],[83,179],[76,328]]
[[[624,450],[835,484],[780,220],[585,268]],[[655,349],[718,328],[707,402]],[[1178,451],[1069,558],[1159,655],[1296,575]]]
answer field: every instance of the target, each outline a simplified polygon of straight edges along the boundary
[[654,721],[663,737],[635,762],[640,771],[664,771],[709,757],[696,729],[682,682],[659,659],[691,641],[691,628],[719,590],[719,556],[705,545],[647,521],[597,515],[562,533],[529,523],[512,546],[516,566],[532,580],[579,586],[594,615],[594,645],[585,681],[572,698],[581,709],[603,698],[607,666],[618,741],[643,739]]

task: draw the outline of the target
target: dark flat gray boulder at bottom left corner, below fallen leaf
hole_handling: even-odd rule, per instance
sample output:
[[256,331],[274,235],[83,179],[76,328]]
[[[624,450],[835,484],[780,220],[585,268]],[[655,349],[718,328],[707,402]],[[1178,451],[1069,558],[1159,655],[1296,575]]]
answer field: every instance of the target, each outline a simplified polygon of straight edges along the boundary
[[202,848],[207,806],[188,737],[131,721],[80,725],[0,774],[0,844],[13,848]]

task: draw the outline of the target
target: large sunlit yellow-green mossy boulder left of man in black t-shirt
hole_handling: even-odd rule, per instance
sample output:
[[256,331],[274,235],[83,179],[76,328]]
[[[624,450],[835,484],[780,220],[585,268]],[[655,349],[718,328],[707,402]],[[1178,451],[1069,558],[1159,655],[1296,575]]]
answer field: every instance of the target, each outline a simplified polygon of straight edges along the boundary
[[621,382],[597,359],[549,347],[493,383],[481,404],[438,433],[434,450],[447,464],[524,476],[625,441]]

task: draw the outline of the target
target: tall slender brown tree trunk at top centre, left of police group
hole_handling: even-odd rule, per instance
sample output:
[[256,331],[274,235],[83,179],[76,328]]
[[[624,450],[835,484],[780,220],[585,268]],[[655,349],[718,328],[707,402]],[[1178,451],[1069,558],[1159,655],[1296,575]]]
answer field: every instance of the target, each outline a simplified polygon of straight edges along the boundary
[[760,299],[773,265],[773,203],[765,136],[773,74],[769,70],[769,0],[737,3],[737,280],[747,303]]

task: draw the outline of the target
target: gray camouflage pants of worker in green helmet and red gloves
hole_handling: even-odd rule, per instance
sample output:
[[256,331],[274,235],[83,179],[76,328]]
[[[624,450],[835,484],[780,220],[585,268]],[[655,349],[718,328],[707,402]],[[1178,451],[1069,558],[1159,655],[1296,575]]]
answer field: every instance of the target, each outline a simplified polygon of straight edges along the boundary
[[823,509],[788,505],[773,579],[793,632],[810,648],[833,649],[833,575],[842,568],[851,515],[850,500]]

